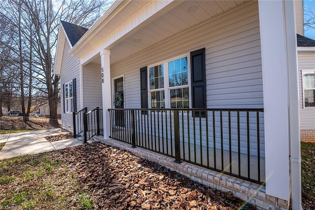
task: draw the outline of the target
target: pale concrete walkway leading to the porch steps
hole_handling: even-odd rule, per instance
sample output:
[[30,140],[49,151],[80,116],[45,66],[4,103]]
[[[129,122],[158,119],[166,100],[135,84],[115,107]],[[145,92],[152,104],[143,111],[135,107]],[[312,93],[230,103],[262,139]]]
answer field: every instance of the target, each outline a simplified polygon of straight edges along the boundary
[[49,142],[46,136],[63,134],[60,128],[37,130],[22,133],[0,135],[0,143],[5,142],[0,150],[0,160],[25,154],[36,154],[46,151],[61,150],[68,147],[83,145],[83,137]]

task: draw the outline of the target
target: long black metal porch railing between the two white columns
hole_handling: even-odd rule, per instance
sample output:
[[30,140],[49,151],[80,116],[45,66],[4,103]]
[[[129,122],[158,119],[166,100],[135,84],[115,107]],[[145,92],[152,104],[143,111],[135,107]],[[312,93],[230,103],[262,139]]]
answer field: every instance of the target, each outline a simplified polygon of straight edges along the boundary
[[109,109],[110,137],[244,180],[265,181],[263,109]]

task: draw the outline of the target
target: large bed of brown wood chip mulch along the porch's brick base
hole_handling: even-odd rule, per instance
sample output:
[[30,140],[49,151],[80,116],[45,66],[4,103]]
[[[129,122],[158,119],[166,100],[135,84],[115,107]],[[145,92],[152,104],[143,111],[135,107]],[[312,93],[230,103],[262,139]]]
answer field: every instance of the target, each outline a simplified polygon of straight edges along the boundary
[[[234,210],[244,204],[128,151],[101,143],[56,151],[90,191],[94,209]],[[244,210],[255,210],[246,206]]]

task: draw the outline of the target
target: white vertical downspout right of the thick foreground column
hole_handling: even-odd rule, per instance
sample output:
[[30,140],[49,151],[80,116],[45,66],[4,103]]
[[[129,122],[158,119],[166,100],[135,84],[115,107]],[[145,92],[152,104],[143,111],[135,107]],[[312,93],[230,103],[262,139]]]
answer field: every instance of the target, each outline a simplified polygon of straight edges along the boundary
[[[289,111],[289,146],[292,210],[303,210],[301,195],[301,142],[299,86],[297,71],[297,41],[295,26],[295,8],[293,0],[283,0],[287,57],[287,85]],[[293,33],[293,34],[292,34]]]

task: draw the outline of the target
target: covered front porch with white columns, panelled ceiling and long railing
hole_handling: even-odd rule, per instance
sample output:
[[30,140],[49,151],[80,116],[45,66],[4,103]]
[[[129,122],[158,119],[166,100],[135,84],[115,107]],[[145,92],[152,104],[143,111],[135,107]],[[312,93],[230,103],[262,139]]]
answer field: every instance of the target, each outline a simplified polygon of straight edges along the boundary
[[[115,3],[70,51],[82,66],[98,68],[103,138],[243,180],[268,180],[268,195],[289,200],[287,66],[279,62],[287,60],[284,2]],[[196,107],[191,53],[202,48],[205,107]],[[189,76],[174,87],[169,66],[181,59]]]

